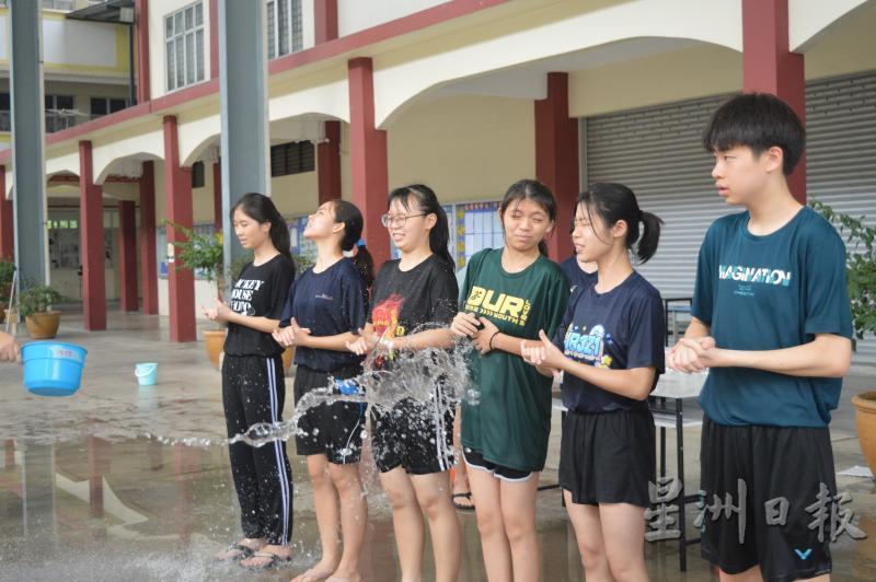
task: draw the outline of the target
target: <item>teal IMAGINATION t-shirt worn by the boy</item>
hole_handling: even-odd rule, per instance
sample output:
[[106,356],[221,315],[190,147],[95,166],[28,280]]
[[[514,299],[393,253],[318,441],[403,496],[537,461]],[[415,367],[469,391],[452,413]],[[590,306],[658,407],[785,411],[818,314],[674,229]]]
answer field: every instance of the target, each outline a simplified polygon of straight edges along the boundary
[[[851,338],[845,246],[833,226],[808,207],[764,236],[748,222],[748,212],[718,219],[700,248],[692,313],[717,347],[763,351],[816,334]],[[718,424],[823,427],[841,387],[841,379],[713,368],[700,404]]]

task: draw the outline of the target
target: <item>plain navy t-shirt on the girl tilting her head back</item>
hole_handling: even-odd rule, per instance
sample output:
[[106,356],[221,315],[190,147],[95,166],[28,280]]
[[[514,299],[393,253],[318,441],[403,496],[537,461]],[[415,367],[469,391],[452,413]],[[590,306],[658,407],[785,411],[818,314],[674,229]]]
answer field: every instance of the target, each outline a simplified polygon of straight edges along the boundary
[[[368,314],[368,290],[356,265],[342,258],[322,272],[306,270],[289,289],[280,326],[290,319],[310,329],[311,336],[337,336],[365,327]],[[298,347],[295,363],[319,372],[334,372],[356,365],[361,357],[350,351]]]

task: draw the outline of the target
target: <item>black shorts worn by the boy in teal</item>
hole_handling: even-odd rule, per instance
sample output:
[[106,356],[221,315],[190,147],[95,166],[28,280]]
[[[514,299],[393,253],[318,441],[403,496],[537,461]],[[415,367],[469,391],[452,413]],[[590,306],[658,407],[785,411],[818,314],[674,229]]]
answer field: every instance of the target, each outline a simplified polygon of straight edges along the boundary
[[728,427],[706,418],[700,464],[703,558],[729,574],[760,564],[771,581],[830,572],[837,482],[827,427]]

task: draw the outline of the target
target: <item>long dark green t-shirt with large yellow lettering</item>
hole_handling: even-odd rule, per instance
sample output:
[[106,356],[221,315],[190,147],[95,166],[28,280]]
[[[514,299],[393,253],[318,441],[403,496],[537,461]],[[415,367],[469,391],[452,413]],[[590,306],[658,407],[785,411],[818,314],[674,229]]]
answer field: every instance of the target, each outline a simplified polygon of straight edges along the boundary
[[[460,311],[486,317],[509,336],[538,339],[544,329],[553,337],[568,301],[566,276],[543,256],[520,272],[507,272],[502,253],[486,249],[469,260]],[[504,467],[544,468],[552,380],[519,356],[499,350],[486,356],[473,351],[470,370],[480,401],[462,401],[463,446]]]

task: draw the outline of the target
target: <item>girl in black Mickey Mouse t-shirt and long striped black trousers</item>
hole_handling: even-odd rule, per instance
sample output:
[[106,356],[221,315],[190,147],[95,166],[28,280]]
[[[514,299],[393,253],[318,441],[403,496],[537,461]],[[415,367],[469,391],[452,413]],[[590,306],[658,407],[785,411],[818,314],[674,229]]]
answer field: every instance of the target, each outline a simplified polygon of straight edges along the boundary
[[[222,361],[222,404],[229,438],[258,422],[283,420],[286,397],[283,347],[270,334],[279,324],[295,264],[289,231],[270,198],[244,195],[231,209],[234,234],[252,249],[228,303],[204,310],[214,322],[228,324]],[[261,447],[239,442],[229,446],[231,474],[241,507],[243,539],[220,552],[247,568],[267,569],[291,556],[292,472],[286,443]]]

